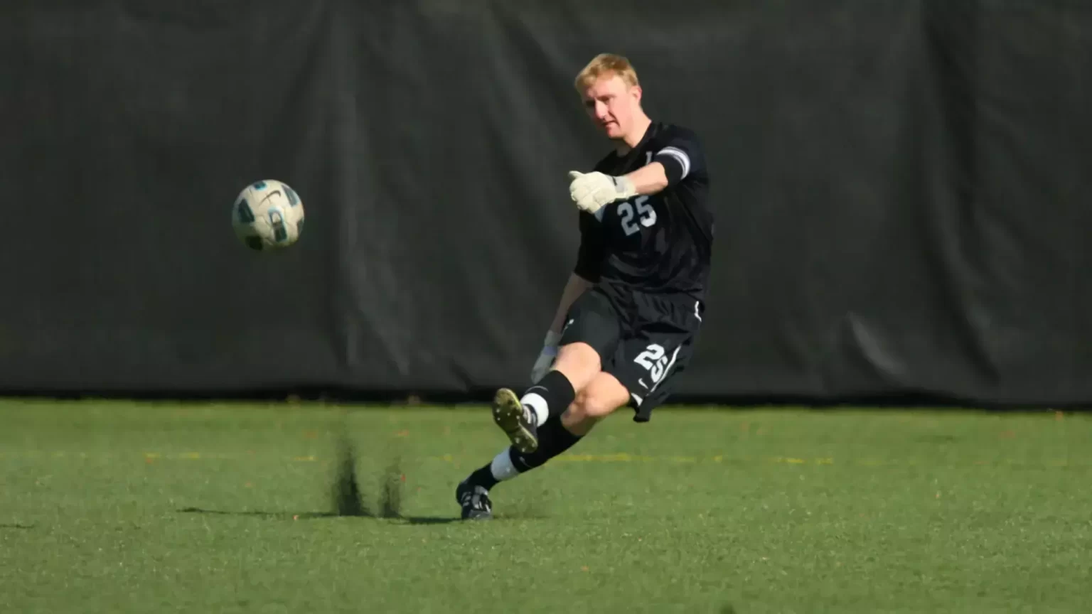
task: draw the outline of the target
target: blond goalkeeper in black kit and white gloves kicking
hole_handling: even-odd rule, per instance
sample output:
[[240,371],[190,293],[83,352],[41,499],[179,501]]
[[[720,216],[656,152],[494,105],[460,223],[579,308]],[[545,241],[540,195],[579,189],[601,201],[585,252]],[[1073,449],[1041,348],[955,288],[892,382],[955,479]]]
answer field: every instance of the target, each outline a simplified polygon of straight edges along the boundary
[[498,390],[492,417],[511,446],[455,491],[464,519],[491,517],[489,489],[571,448],[629,405],[648,422],[690,359],[704,312],[713,240],[709,175],[693,132],[653,121],[637,72],[595,57],[575,80],[614,142],[592,173],[570,172],[580,249],[533,386]]

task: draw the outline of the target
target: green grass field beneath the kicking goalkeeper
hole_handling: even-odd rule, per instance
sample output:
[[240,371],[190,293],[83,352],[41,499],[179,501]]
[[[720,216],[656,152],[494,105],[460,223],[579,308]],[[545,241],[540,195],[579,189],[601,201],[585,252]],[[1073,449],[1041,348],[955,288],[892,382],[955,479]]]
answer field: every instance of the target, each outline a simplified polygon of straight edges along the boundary
[[[344,421],[344,422],[343,422]],[[348,425],[373,508],[336,517]],[[1092,612],[1092,420],[618,414],[462,522],[477,409],[0,402],[0,612]]]

